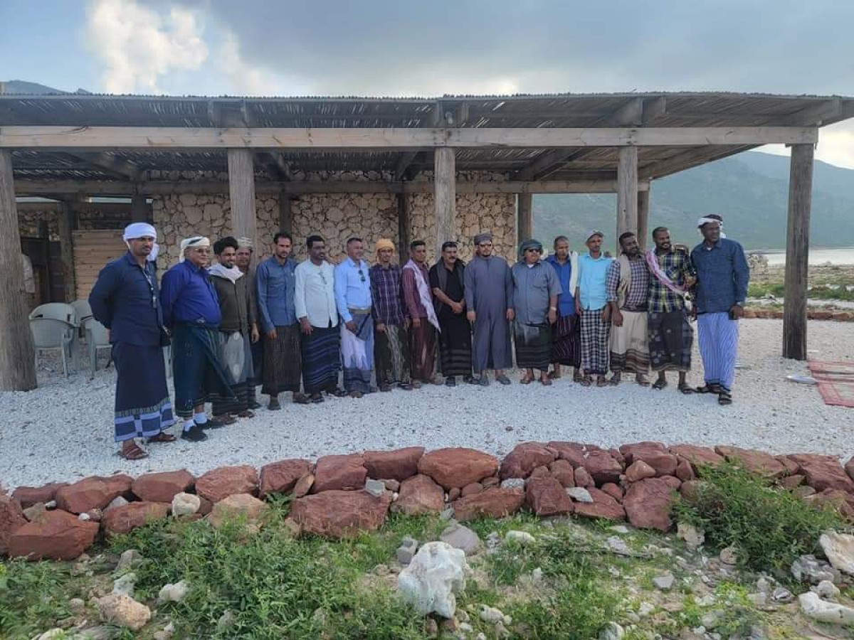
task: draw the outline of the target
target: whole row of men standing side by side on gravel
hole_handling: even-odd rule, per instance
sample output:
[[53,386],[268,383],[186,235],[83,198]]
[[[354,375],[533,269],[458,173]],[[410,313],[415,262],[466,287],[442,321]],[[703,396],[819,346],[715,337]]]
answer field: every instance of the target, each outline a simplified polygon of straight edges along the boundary
[[[641,253],[635,235],[625,233],[619,258],[607,258],[604,235],[593,230],[588,253],[571,252],[559,236],[544,260],[541,243],[528,240],[512,266],[494,255],[489,233],[475,237],[468,265],[457,243],[447,241],[428,267],[424,241],[412,242],[401,266],[394,243],[380,239],[368,265],[358,237],[348,239],[347,257],[333,266],[321,236],[307,237],[308,257],[296,264],[292,237],[282,231],[256,269],[249,240],[225,237],[212,246],[192,236],[181,241],[180,261],[160,284],[155,228],[130,224],[128,252],[104,267],[90,295],[113,344],[120,455],[146,457],[137,438],[176,439],[167,431],[173,414],[182,422],[180,437],[192,442],[207,439],[209,428],[254,416],[258,384],[269,410],[281,409],[281,393],[297,404],[323,402],[325,394],[358,399],[442,384],[440,372],[447,387],[458,377],[488,386],[490,370],[508,385],[512,342],[522,384],[535,381],[536,370],[549,386],[567,366],[585,387],[594,377],[596,386],[616,385],[624,373],[648,386],[652,368],[652,387],[663,389],[666,371],[676,369],[682,393],[717,393],[729,404],[748,271],[743,250],[722,237],[721,224],[719,217],[701,218],[704,241],[691,255],[659,227],[654,249]],[[705,385],[696,390],[686,381],[693,345],[687,294],[705,364]],[[161,355],[170,344],[174,404]]]

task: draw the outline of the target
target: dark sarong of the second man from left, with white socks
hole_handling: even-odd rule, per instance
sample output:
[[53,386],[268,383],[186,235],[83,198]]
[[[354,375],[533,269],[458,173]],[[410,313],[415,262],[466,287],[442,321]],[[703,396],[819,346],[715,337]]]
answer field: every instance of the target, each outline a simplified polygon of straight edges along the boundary
[[214,397],[237,400],[219,363],[217,337],[211,329],[177,324],[173,330],[172,370],[175,413],[189,418],[194,408]]

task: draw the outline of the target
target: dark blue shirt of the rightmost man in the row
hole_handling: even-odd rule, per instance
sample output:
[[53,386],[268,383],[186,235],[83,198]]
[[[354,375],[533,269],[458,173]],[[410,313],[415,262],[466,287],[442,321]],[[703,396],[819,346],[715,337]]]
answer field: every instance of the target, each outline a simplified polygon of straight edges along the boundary
[[698,313],[720,313],[745,304],[750,267],[738,242],[721,238],[711,247],[700,242],[693,247],[691,261],[697,271]]

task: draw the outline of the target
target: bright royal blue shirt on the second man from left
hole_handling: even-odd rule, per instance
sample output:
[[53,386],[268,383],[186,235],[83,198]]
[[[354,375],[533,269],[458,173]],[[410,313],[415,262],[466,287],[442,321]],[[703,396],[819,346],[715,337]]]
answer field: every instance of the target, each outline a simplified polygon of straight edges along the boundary
[[199,269],[190,260],[179,262],[163,274],[161,305],[167,327],[190,323],[216,329],[222,319],[208,271]]

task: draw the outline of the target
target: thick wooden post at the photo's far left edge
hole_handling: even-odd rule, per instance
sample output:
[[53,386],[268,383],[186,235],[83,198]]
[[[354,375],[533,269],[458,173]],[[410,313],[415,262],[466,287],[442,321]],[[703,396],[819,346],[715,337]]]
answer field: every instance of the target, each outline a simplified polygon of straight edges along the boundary
[[24,294],[20,230],[12,183],[12,152],[0,149],[0,391],[36,388],[36,357]]

